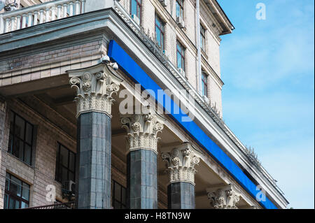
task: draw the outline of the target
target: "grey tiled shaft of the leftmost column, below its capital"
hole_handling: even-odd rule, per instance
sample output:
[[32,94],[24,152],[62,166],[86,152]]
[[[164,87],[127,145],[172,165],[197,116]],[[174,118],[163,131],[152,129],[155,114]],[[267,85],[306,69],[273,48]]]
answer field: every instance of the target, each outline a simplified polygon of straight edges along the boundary
[[77,207],[111,208],[111,117],[83,113],[78,117]]

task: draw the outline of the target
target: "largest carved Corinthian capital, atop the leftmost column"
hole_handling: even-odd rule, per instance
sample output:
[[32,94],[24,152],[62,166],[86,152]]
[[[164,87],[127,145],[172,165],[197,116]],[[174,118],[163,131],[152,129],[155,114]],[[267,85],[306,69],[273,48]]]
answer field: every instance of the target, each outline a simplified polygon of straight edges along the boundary
[[66,71],[71,87],[76,89],[77,116],[90,111],[111,115],[113,94],[117,94],[121,82],[114,74],[117,69],[117,64],[108,63]]

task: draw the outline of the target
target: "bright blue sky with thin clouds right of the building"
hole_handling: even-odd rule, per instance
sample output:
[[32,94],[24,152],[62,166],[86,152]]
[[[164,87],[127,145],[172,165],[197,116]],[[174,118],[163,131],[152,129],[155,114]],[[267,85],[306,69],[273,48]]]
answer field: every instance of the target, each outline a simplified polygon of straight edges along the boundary
[[314,0],[218,2],[236,28],[221,36],[223,120],[255,148],[288,208],[314,208]]

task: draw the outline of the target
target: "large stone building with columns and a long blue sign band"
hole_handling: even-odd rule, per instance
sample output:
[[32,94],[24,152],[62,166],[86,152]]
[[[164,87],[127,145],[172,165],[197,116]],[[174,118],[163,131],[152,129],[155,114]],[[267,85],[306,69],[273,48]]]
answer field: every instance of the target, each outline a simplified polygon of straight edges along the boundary
[[0,208],[286,208],[222,120],[234,27],[216,0],[16,3],[0,13]]

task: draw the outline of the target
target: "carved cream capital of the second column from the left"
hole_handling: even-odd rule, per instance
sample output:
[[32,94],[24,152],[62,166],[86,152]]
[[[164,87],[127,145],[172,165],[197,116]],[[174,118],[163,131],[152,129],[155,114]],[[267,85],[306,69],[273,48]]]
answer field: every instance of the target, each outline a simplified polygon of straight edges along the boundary
[[153,150],[158,153],[158,133],[163,129],[163,119],[154,111],[144,115],[123,115],[120,118],[127,130],[127,149]]

